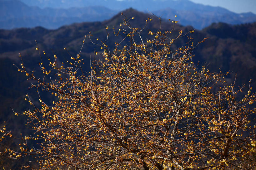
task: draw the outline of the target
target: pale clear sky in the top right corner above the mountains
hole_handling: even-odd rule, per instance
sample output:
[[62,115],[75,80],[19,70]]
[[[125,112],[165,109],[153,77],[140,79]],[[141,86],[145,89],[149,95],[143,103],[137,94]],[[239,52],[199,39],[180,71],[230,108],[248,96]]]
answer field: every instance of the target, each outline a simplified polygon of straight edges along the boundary
[[220,6],[236,13],[253,12],[256,14],[256,0],[190,0],[204,5]]

